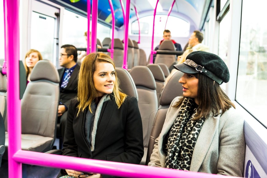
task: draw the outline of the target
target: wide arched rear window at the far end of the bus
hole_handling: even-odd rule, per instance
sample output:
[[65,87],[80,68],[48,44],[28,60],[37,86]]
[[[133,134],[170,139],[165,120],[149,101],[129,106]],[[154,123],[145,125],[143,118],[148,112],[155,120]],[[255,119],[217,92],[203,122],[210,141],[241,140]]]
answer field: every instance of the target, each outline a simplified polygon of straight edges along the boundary
[[[165,29],[167,17],[168,17],[167,15],[155,16],[154,36],[162,36],[162,32]],[[152,36],[153,18],[154,16],[146,16],[139,19],[141,34],[147,34],[149,36]],[[171,23],[174,21],[175,23]],[[166,29],[171,31],[172,36],[188,37],[189,28],[190,28],[189,22],[184,21],[183,19],[177,17],[169,16]],[[132,22],[132,34],[138,34],[139,33],[138,30],[139,30],[138,21],[136,20]]]

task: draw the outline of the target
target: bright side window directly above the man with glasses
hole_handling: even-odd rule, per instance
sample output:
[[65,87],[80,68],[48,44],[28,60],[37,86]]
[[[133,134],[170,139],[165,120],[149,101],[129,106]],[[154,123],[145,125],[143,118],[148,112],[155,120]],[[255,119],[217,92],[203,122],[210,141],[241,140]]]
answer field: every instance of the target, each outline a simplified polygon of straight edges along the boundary
[[84,32],[87,31],[87,18],[64,10],[62,44],[72,44],[75,47],[86,47]]

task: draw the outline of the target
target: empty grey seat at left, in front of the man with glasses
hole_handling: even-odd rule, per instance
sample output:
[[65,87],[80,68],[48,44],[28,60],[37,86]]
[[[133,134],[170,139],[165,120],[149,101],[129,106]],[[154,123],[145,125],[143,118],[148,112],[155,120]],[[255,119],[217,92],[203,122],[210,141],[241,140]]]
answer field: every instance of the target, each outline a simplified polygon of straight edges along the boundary
[[[34,66],[30,80],[21,99],[21,149],[46,152],[55,141],[59,74],[51,61],[40,60]],[[6,134],[6,150],[7,146]]]

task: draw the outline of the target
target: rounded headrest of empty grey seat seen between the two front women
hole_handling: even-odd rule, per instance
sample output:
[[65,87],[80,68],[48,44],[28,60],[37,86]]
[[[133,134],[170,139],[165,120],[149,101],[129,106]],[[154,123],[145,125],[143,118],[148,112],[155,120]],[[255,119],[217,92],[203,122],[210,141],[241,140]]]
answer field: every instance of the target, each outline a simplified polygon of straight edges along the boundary
[[156,82],[153,74],[146,66],[134,66],[130,74],[135,82],[135,85],[147,87],[149,89],[156,89]]

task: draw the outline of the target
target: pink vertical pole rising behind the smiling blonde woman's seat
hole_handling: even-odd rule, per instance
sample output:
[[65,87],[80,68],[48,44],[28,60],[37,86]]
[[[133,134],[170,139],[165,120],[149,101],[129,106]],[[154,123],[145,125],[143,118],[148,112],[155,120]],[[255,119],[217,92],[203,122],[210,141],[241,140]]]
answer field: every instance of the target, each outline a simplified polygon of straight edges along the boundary
[[128,55],[128,29],[129,29],[129,17],[130,17],[130,0],[126,0],[126,15],[124,21],[124,57],[122,68],[128,69],[127,55]]

